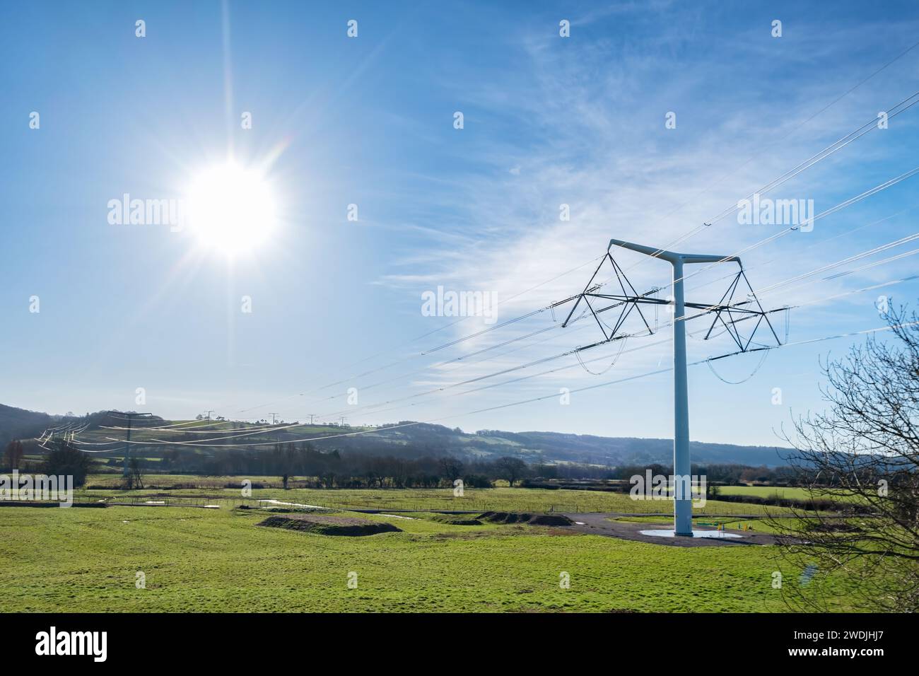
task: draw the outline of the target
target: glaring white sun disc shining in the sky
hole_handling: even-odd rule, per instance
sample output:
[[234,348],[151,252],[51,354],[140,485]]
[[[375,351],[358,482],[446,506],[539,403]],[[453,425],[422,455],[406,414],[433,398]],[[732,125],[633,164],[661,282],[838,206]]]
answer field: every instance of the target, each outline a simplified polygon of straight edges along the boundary
[[228,256],[264,244],[275,230],[275,199],[267,179],[234,162],[210,166],[191,182],[189,226],[201,246]]

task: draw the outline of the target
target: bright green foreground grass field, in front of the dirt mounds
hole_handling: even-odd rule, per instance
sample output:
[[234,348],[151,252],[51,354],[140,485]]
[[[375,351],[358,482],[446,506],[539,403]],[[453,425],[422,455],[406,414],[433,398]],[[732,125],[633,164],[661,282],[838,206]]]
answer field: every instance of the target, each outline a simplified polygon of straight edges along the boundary
[[[262,510],[2,508],[0,593],[7,610],[32,612],[781,612],[773,572],[786,584],[800,575],[773,547],[352,516],[395,522],[403,533],[258,527]],[[135,586],[138,571],[145,589]],[[562,572],[570,589],[560,587]],[[348,589],[349,573],[357,589]],[[850,609],[838,580],[818,583],[835,610]]]

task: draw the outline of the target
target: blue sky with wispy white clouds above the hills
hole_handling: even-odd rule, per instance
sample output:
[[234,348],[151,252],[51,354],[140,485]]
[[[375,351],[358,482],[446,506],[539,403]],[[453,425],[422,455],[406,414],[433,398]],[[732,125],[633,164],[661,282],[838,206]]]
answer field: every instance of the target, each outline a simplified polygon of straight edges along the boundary
[[[915,42],[914,2],[802,5],[7,3],[0,402],[671,436],[669,373],[575,392],[569,405],[558,397],[666,368],[663,313],[659,335],[629,338],[602,376],[567,357],[455,385],[593,342],[598,329],[509,343],[550,327],[551,313],[494,328],[426,316],[422,294],[494,293],[498,324],[545,307],[584,287],[610,237],[664,246],[919,90],[919,47],[874,74]],[[32,111],[40,129],[29,128]],[[244,111],[252,129],[241,128]],[[675,129],[664,124],[671,111]],[[919,164],[917,120],[919,106],[768,196],[823,212],[901,176]],[[231,262],[187,230],[108,223],[108,201],[179,198],[230,152],[268,167],[279,217],[265,246]],[[750,249],[754,288],[919,232],[917,181]],[[730,215],[679,248],[733,254],[780,229]],[[916,284],[849,292],[913,274],[916,257],[825,278],[914,245],[792,281],[763,302],[809,303],[790,313],[791,342],[880,327],[879,295],[914,304]],[[639,291],[669,281],[665,263],[614,253]],[[729,271],[686,281],[687,298],[717,301]],[[794,413],[823,407],[818,360],[861,339],[774,350],[738,385],[692,367],[692,439],[776,443]],[[689,341],[690,361],[725,351],[724,337]],[[582,359],[602,370],[617,352]],[[759,361],[713,366],[741,380]],[[482,384],[501,385],[464,394]],[[469,413],[539,396],[549,398]],[[384,404],[393,399],[403,401]]]

